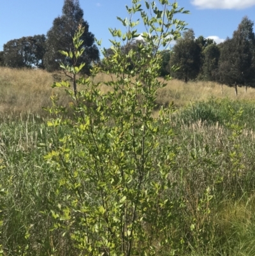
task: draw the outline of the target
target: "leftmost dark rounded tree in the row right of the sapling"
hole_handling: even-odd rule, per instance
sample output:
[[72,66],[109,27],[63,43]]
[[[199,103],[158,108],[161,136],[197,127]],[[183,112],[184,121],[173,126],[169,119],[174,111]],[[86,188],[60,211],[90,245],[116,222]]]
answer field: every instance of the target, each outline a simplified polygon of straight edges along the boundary
[[196,79],[200,72],[201,49],[195,41],[193,29],[184,32],[182,38],[177,40],[173,47],[173,54],[170,58],[170,66],[178,66],[179,69],[171,72],[171,75],[177,79],[188,80]]

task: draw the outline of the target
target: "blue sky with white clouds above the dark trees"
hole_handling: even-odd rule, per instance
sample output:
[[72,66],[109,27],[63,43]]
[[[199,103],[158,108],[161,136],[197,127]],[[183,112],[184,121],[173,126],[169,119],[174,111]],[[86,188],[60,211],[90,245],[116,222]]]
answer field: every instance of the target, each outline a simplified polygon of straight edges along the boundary
[[[172,0],[173,1],[173,0]],[[218,43],[231,37],[242,17],[255,20],[255,0],[177,0],[180,7],[191,11],[179,16],[188,23],[196,36],[214,36]],[[46,34],[55,17],[62,13],[64,0],[8,0],[0,3],[0,50],[9,40],[34,34]],[[122,29],[116,19],[128,17],[125,5],[131,0],[80,0],[84,19],[90,31],[102,39],[103,47],[110,47],[108,27]],[[143,32],[140,27],[139,33]],[[255,31],[255,27],[254,27]]]

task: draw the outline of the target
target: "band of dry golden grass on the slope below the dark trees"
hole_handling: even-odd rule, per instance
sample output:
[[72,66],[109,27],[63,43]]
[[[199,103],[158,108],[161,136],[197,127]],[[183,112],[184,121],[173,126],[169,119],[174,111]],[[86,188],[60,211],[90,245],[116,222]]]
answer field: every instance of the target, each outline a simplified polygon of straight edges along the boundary
[[[64,77],[61,74],[57,74],[57,76]],[[95,82],[110,80],[112,80],[110,75],[99,73]],[[33,112],[34,114],[43,114],[44,111],[41,110],[41,107],[51,105],[50,95],[59,93],[56,88],[50,87],[53,82],[54,74],[45,70],[0,68],[0,113]],[[109,88],[102,84],[101,90],[106,92]],[[60,103],[68,105],[68,97],[60,94]],[[235,96],[234,89],[227,86],[223,86],[223,94],[221,94],[221,86],[214,82],[189,82],[186,84],[179,80],[170,80],[166,87],[158,91],[157,103],[167,105],[173,101],[177,107],[181,107],[188,102],[205,101],[210,97],[255,100],[255,89],[248,88],[245,93],[244,88],[238,88],[238,96]]]

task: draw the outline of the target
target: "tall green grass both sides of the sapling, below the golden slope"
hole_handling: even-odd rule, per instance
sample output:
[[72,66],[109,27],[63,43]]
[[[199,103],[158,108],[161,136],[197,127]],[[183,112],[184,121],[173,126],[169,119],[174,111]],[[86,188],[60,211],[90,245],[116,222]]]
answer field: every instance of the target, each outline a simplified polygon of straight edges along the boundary
[[[226,101],[217,105],[219,112],[225,105],[247,114],[245,103]],[[175,202],[169,250],[175,248],[175,255],[254,255],[253,130],[244,128],[231,140],[233,130],[219,123],[194,118],[185,124],[186,111],[172,121],[175,136],[161,141],[177,150],[169,172],[169,199]],[[47,147],[55,148],[54,130],[33,116],[2,119],[0,126],[2,254],[79,255],[68,233],[62,236],[65,230],[52,230],[50,211],[57,211],[55,202],[64,196],[55,193],[57,174],[43,161]],[[61,133],[69,133],[68,126]]]

